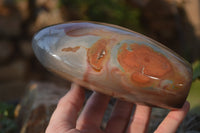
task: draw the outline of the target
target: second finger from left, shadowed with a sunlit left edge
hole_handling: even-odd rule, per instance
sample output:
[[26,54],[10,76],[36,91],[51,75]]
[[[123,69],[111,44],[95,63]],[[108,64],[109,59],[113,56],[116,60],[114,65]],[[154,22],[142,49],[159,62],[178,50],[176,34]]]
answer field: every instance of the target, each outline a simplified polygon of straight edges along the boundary
[[100,128],[109,99],[109,96],[94,92],[81,112],[76,128],[79,130]]

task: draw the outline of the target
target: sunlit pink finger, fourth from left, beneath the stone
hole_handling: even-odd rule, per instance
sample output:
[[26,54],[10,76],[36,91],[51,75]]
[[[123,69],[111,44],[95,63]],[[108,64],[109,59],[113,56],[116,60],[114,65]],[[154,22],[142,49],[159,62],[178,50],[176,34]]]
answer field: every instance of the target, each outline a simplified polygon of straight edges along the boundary
[[151,107],[137,105],[128,133],[145,133],[149,124]]

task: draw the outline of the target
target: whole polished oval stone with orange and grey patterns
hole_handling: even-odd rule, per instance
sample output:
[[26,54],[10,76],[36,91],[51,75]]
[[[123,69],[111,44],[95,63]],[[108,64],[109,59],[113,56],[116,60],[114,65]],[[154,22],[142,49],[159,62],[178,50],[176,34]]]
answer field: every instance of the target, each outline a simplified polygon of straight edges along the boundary
[[71,22],[50,26],[33,38],[40,62],[88,89],[126,101],[180,108],[192,69],[160,43],[115,25]]

